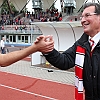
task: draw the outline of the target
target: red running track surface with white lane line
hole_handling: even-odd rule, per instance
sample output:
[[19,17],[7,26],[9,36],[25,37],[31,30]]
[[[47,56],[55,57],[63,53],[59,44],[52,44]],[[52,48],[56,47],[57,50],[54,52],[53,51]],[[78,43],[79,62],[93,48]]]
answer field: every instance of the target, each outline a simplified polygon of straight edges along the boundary
[[0,100],[74,100],[74,86],[0,72]]

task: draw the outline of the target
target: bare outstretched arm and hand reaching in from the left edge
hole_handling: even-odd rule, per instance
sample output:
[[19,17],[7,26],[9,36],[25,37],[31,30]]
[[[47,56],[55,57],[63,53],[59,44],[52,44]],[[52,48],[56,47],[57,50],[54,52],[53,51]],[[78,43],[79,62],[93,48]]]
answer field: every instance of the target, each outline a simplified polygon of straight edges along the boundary
[[45,52],[45,49],[46,51],[51,51],[53,49],[54,42],[46,42],[45,39],[46,38],[43,37],[38,43],[34,43],[30,47],[27,47],[23,50],[10,52],[8,54],[0,54],[0,66],[8,66],[37,51]]

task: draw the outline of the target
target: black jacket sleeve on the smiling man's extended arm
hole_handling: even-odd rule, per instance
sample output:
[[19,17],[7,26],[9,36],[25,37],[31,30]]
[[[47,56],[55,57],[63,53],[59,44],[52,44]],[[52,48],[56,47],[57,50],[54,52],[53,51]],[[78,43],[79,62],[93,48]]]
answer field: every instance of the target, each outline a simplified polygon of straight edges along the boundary
[[75,55],[76,55],[76,46],[74,44],[72,47],[70,47],[63,53],[60,53],[54,49],[52,52],[49,52],[47,55],[44,56],[46,57],[46,60],[53,66],[62,70],[67,70],[69,68],[74,67]]

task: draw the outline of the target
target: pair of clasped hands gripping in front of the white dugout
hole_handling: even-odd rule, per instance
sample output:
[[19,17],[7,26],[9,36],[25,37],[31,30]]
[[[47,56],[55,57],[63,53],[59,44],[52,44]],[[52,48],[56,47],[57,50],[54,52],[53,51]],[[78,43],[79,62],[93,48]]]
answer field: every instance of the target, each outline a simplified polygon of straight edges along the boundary
[[54,49],[54,40],[51,35],[37,37],[34,44],[38,46],[38,51],[42,53],[48,53]]

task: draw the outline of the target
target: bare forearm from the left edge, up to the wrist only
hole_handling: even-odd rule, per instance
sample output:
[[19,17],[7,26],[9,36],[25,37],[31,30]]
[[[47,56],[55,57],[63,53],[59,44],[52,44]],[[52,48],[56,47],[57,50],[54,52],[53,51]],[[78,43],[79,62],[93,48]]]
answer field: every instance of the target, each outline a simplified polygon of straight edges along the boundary
[[0,57],[0,66],[5,67],[8,66],[16,61],[19,61],[26,56],[34,53],[37,51],[36,46],[30,46],[28,48],[25,48],[24,50],[14,51],[10,52],[8,54],[1,54]]

